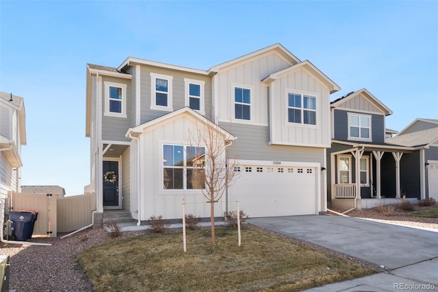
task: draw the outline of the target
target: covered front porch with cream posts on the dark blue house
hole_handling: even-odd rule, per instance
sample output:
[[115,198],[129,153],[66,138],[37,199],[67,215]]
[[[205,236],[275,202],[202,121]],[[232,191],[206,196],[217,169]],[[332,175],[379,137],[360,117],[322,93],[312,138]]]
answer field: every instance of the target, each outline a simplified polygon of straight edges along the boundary
[[412,171],[415,166],[408,157],[415,155],[415,149],[344,141],[333,143],[332,148],[328,199],[334,208],[374,208],[403,197],[420,199],[420,185],[415,184],[420,166]]

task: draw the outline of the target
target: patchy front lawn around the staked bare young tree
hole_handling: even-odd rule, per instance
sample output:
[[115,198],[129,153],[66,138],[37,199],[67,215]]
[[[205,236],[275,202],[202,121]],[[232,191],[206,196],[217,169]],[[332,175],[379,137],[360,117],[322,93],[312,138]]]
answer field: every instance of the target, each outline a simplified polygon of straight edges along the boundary
[[352,260],[257,230],[151,234],[92,247],[78,256],[96,291],[301,291],[376,273]]

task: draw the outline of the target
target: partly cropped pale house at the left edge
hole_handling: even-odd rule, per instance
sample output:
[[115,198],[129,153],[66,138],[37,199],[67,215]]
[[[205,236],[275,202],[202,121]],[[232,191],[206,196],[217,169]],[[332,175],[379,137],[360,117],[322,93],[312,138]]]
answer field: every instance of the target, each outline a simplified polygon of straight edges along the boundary
[[21,145],[26,145],[23,98],[0,92],[0,199],[20,191]]

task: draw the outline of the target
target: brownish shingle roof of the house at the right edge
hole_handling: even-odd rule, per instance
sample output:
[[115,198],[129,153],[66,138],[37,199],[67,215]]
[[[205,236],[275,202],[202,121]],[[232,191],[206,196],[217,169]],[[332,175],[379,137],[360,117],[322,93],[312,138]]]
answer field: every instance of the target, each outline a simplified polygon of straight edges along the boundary
[[392,145],[406,147],[426,146],[438,141],[438,126],[432,129],[421,130],[409,134],[398,134],[388,138],[385,142]]

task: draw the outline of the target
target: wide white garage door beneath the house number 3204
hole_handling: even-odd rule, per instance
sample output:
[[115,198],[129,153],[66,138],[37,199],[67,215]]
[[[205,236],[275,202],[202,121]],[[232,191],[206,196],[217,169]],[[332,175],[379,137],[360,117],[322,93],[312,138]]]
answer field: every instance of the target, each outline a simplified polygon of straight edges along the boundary
[[229,188],[231,202],[239,199],[249,217],[318,214],[318,168],[277,163],[238,167],[240,174]]

